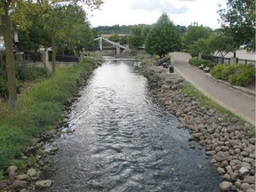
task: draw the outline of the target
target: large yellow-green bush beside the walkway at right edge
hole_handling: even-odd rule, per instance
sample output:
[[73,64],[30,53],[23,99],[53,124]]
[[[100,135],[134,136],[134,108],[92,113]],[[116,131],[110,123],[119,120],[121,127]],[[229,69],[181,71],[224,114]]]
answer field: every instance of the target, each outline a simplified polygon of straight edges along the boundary
[[212,68],[211,75],[217,79],[228,81],[230,84],[246,86],[252,84],[255,79],[255,68],[251,65],[243,64],[218,64]]

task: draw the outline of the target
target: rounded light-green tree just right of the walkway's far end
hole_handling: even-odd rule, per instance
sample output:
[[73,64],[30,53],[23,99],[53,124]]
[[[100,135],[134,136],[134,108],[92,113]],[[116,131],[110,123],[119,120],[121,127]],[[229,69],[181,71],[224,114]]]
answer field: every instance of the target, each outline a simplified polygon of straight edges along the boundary
[[211,34],[210,28],[205,28],[204,26],[197,26],[197,24],[190,25],[187,31],[182,36],[182,43],[185,49],[196,43],[198,39],[207,39]]

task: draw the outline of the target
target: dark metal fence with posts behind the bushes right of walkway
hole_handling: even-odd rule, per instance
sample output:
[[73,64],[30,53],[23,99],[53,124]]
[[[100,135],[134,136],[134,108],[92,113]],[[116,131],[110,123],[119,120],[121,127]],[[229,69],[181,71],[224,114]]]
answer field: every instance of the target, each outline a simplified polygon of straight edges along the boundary
[[[216,57],[212,55],[202,55],[202,59],[204,60],[211,60],[214,64],[223,63],[223,64],[234,64],[231,63],[231,58],[225,58],[225,57]],[[236,63],[244,64],[244,65],[256,65],[256,60],[244,60],[236,58]]]

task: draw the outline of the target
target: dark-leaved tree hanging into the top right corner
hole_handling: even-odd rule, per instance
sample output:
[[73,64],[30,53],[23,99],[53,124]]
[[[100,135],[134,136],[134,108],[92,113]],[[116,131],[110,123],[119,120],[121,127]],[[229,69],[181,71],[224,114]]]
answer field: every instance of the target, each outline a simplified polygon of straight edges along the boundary
[[234,39],[236,48],[246,44],[255,50],[255,0],[228,0],[227,8],[218,12],[222,29]]

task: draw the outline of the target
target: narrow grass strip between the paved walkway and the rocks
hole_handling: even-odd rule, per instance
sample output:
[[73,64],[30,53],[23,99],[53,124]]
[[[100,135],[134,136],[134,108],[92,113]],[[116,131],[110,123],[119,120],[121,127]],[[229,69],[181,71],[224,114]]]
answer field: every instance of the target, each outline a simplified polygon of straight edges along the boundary
[[[223,122],[228,122],[232,116],[236,116],[234,113],[229,111],[226,108],[221,107],[217,102],[211,100],[203,92],[199,92],[192,84],[186,84],[181,89],[182,92],[186,93],[189,97],[195,97],[199,100],[199,104],[202,107],[214,108],[222,116]],[[244,124],[246,121],[239,116],[236,116],[239,119],[240,124]],[[255,138],[255,127],[251,124],[251,127],[247,130],[247,137]]]

